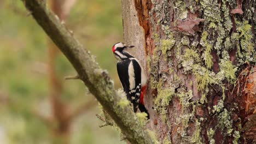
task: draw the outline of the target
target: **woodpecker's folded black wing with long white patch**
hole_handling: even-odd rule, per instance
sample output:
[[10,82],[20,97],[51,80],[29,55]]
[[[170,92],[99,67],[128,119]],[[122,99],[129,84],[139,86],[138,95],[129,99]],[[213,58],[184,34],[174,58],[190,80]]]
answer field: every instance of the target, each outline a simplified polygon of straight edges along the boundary
[[118,62],[117,70],[127,99],[131,101],[136,112],[141,93],[141,67],[135,59],[125,59]]

